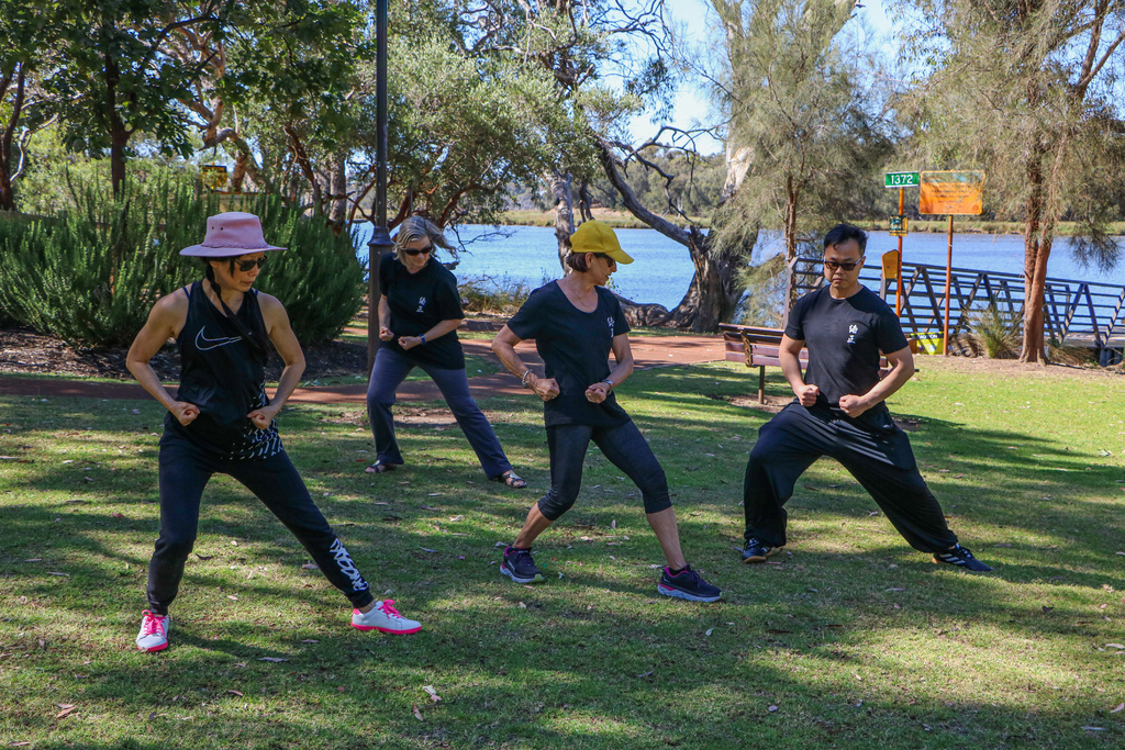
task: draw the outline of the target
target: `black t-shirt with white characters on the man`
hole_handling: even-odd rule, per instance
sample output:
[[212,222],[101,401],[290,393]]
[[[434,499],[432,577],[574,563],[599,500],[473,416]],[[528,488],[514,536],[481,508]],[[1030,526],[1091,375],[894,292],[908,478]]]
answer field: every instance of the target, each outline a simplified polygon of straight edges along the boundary
[[[838,408],[840,396],[862,396],[879,382],[880,353],[906,349],[907,337],[890,307],[866,287],[835,299],[829,287],[793,305],[785,335],[804,341],[804,382],[820,388],[818,401]],[[880,401],[873,409],[886,408]]]

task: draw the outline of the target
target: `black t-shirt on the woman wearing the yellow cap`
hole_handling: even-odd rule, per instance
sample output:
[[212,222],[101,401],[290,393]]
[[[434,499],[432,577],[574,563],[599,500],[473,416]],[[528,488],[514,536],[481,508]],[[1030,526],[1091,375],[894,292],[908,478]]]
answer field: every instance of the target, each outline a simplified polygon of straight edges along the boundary
[[543,403],[543,422],[548,427],[612,426],[629,419],[612,391],[601,404],[586,400],[586,389],[610,377],[613,336],[629,333],[621,304],[608,289],[595,289],[597,309],[584,313],[552,281],[531,292],[507,322],[507,327],[520,338],[536,340],[547,377],[558,381],[559,395]]

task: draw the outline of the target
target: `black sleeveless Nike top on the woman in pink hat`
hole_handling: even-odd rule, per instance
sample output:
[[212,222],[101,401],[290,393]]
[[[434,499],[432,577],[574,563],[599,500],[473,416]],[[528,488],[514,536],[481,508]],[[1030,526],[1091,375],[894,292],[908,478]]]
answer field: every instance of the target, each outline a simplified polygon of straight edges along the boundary
[[[266,396],[266,353],[243,341],[231,320],[207,299],[201,281],[184,287],[188,318],[177,336],[180,347],[180,389],[177,400],[199,407],[199,416],[187,426],[171,412],[165,432],[180,435],[226,459],[266,459],[285,450],[277,423],[258,430],[246,417],[269,406]],[[258,290],[242,298],[237,318],[245,328],[266,340],[266,322],[258,306]]]

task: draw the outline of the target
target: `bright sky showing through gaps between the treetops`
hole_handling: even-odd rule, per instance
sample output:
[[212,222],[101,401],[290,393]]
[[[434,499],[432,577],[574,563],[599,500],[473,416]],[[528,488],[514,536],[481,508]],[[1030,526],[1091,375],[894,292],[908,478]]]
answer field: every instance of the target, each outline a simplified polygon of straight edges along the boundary
[[[884,48],[888,54],[894,54],[890,44],[892,24],[884,12],[884,4],[890,0],[863,0],[860,13],[866,17],[867,22],[876,35],[886,42]],[[714,13],[710,10],[706,0],[665,0],[668,16],[675,24],[684,24],[685,33],[691,42],[702,43],[706,40],[709,26],[714,21]],[[670,125],[680,128],[691,128],[699,125],[708,125],[708,116],[711,109],[706,96],[691,85],[682,85],[676,92],[675,109]],[[632,119],[629,129],[633,136],[633,143],[642,143],[647,138],[656,135],[657,126],[651,121],[651,112],[644,112]],[[702,137],[699,141],[699,148],[704,154],[722,151],[722,143],[710,137]]]

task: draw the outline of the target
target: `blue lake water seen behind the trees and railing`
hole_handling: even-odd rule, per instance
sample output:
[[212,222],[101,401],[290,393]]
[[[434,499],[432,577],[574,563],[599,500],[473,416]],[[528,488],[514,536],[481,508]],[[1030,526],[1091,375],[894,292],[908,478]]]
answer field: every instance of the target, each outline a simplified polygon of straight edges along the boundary
[[[550,227],[460,227],[460,238],[466,250],[460,253],[460,264],[453,271],[459,280],[469,278],[507,279],[531,286],[561,275],[558,262],[555,229]],[[367,242],[371,225],[357,229],[359,256],[367,261]],[[618,229],[621,247],[632,255],[633,263],[619,264],[612,283],[618,293],[638,302],[657,302],[675,307],[691,282],[693,266],[687,250],[655,229]],[[452,240],[452,237],[450,237]],[[906,263],[927,263],[945,266],[947,235],[917,233],[902,241],[902,260]],[[879,256],[898,246],[898,240],[885,232],[872,232],[867,241],[867,265],[879,268]],[[776,254],[780,242],[759,241],[754,251],[754,262]],[[439,257],[450,260],[448,253]],[[1019,235],[953,235],[953,265],[961,269],[1023,273],[1024,238]],[[1051,253],[1047,274],[1061,279],[1101,281],[1125,284],[1125,264],[1109,272],[1082,268],[1072,257],[1069,242],[1060,238]]]

